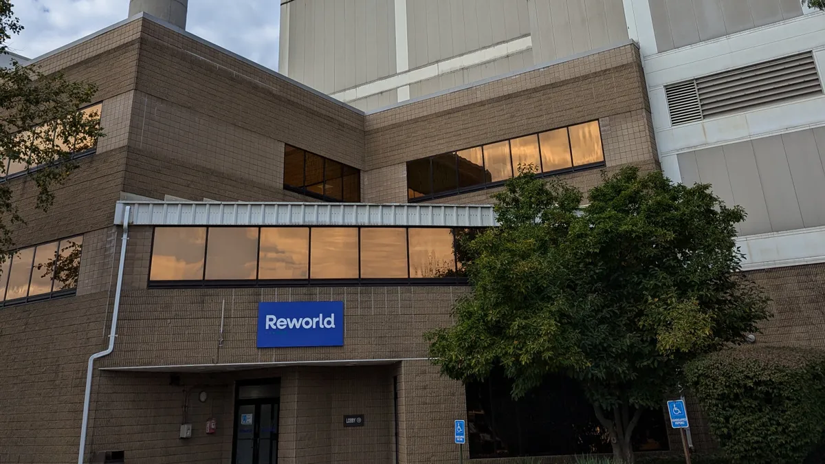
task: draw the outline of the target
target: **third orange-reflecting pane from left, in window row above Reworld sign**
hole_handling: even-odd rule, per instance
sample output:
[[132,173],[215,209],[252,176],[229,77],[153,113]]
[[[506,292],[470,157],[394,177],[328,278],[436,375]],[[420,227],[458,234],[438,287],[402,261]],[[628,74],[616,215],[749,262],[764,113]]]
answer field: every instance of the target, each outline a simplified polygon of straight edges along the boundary
[[259,279],[309,277],[309,228],[262,228],[260,259]]

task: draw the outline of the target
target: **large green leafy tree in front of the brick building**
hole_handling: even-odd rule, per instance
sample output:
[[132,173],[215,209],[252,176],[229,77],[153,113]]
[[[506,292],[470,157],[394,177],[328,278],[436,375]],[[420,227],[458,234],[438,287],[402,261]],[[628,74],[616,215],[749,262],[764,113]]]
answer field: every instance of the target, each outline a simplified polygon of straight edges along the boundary
[[769,316],[738,273],[745,213],[707,185],[624,168],[580,208],[573,187],[522,173],[494,199],[500,226],[461,240],[473,292],[454,326],[426,334],[430,356],[461,381],[500,367],[515,398],[548,374],[571,377],[621,461],[634,461],[642,410],[661,410],[685,362]]

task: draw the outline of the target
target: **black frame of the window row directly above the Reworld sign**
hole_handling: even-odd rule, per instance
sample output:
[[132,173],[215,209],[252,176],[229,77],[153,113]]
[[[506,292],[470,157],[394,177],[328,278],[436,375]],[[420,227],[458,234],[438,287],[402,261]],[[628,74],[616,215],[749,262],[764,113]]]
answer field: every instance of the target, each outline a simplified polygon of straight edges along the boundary
[[[204,246],[204,275],[200,280],[169,280],[169,281],[153,281],[152,266],[154,262],[154,244],[155,233],[158,229],[176,228],[176,227],[204,227],[206,229],[206,243]],[[256,276],[260,275],[261,267],[261,229],[263,228],[282,228],[282,229],[309,229],[308,236],[308,262],[307,262],[307,278],[305,279],[247,279],[247,280],[206,280],[205,279],[205,259],[206,253],[209,249],[209,229],[210,227],[220,228],[255,228],[258,229],[257,241],[257,269]],[[347,228],[358,230],[358,276],[357,278],[332,278],[332,279],[314,279],[312,278],[312,234],[314,229],[325,228]],[[401,278],[373,278],[361,277],[361,229],[404,229],[406,244],[407,244],[407,277]],[[484,230],[487,227],[447,227],[443,225],[157,225],[152,230],[152,244],[149,247],[149,267],[146,277],[147,288],[271,288],[271,287],[300,287],[300,286],[466,286],[469,285],[469,279],[466,275],[461,274],[458,262],[458,253],[455,252],[457,242],[456,234],[453,235],[453,260],[455,262],[454,275],[451,277],[412,277],[409,270],[409,230],[410,229],[449,229],[449,230]]]

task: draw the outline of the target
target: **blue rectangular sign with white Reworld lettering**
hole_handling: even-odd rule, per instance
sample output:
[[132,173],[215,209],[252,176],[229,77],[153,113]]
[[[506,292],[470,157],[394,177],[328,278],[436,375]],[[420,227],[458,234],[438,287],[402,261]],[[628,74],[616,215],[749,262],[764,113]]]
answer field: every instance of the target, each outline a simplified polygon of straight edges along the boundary
[[342,346],[343,301],[258,303],[257,348]]

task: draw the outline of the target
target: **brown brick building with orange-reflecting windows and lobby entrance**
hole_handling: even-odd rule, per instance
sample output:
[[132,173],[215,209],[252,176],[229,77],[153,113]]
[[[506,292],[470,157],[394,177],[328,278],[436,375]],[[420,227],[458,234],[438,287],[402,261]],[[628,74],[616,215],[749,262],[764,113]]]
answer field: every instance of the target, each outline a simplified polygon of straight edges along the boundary
[[[480,430],[492,400],[427,360],[468,291],[451,231],[494,225],[519,161],[583,191],[660,168],[629,39],[366,112],[143,12],[33,63],[97,83],[106,137],[47,213],[3,181],[28,222],[0,283],[0,462],[455,462],[454,419],[477,462],[536,449]],[[73,273],[38,277],[50,256]],[[749,259],[777,313],[757,343],[823,346],[825,265]],[[341,343],[262,343],[261,303],[338,301]]]

